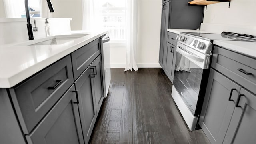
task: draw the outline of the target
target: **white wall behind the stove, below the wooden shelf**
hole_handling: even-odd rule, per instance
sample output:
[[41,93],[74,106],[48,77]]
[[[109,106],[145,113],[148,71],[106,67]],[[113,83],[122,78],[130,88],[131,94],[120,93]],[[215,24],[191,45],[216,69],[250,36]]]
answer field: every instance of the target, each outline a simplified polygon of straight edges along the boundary
[[230,8],[227,2],[208,5],[201,28],[256,35],[256,0],[232,0]]

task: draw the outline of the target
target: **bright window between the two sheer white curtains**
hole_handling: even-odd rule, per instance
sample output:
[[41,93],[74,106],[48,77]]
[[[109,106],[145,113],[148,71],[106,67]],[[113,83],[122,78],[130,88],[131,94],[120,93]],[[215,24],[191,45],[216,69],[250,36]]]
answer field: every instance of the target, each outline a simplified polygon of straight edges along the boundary
[[103,27],[112,42],[125,42],[125,0],[101,0]]

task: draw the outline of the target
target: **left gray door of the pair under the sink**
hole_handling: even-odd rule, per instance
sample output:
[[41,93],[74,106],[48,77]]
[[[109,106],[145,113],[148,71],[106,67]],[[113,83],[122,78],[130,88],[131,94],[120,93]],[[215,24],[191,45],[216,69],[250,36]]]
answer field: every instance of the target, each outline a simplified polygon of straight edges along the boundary
[[84,141],[88,144],[92,129],[94,127],[97,112],[94,99],[94,83],[92,80],[93,68],[91,65],[75,82],[76,90],[78,91],[79,113],[81,118]]

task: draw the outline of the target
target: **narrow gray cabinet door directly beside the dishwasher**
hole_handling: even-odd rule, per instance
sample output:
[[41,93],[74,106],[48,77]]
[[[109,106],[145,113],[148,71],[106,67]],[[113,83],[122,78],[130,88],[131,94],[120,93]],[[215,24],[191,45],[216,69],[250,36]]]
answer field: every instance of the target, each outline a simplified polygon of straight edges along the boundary
[[100,111],[100,106],[102,104],[102,101],[104,99],[104,91],[103,91],[103,77],[102,77],[102,60],[101,55],[94,60],[92,63],[92,68],[94,69],[94,97],[95,97],[95,105],[96,105],[96,111],[97,115]]

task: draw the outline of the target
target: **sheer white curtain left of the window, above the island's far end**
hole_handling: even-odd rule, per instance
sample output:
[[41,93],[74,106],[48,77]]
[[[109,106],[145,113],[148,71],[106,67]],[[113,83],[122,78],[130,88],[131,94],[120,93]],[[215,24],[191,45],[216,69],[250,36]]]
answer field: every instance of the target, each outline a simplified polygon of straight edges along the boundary
[[97,31],[102,28],[102,4],[100,0],[83,1],[82,30]]

